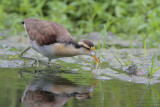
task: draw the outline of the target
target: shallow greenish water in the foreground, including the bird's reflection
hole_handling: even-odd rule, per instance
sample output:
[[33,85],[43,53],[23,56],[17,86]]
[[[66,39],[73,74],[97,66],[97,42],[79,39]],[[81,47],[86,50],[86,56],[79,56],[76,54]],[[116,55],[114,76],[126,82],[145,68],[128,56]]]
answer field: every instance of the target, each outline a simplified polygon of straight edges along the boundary
[[0,107],[158,107],[160,84],[98,80],[91,71],[0,69]]

